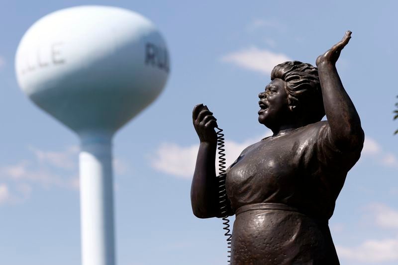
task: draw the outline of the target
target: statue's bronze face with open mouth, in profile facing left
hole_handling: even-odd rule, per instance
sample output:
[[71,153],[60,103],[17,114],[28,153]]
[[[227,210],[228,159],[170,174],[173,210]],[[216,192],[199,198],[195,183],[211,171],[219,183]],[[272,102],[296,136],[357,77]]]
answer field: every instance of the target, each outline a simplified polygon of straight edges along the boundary
[[265,91],[258,95],[258,121],[270,129],[281,127],[291,116],[285,86],[286,82],[282,79],[274,79],[265,87]]

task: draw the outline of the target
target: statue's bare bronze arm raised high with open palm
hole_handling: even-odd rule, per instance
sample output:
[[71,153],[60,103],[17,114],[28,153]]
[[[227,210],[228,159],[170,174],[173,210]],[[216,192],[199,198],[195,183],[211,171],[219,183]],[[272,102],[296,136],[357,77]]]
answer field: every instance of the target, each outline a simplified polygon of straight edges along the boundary
[[357,149],[362,146],[364,141],[359,115],[345,91],[336,69],[336,62],[341,50],[347,45],[350,38],[351,31],[347,31],[340,42],[316,59],[323,105],[331,137],[341,151]]

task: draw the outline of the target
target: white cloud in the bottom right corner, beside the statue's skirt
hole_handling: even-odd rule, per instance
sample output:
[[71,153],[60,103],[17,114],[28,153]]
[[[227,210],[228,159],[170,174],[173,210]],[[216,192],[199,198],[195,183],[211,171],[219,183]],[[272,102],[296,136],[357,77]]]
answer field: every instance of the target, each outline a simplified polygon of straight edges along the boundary
[[336,251],[340,258],[362,263],[398,261],[398,239],[366,240],[357,247],[336,246]]

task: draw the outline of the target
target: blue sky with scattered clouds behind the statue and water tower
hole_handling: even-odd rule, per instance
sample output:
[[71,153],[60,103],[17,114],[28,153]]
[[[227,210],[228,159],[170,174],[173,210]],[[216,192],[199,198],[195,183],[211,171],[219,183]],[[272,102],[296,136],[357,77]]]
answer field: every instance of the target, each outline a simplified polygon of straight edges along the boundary
[[337,64],[360,114],[365,148],[330,220],[341,264],[398,263],[397,3],[352,1],[0,2],[0,263],[80,263],[77,136],[19,90],[14,55],[43,15],[81,4],[114,5],[152,20],[171,75],[159,98],[114,138],[118,265],[226,264],[221,221],[194,217],[191,176],[199,140],[192,108],[205,103],[225,131],[228,159],[269,131],[257,95],[272,67],[311,64],[352,39]]

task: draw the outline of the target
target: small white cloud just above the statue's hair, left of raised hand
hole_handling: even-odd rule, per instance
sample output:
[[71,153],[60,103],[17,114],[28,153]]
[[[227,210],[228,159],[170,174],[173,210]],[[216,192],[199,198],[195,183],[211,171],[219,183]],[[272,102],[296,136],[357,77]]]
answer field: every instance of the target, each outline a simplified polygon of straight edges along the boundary
[[221,61],[263,74],[270,74],[276,65],[291,61],[291,59],[285,54],[273,53],[253,46],[227,54],[221,58]]

